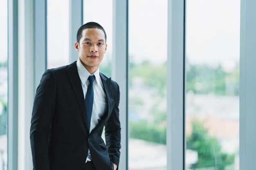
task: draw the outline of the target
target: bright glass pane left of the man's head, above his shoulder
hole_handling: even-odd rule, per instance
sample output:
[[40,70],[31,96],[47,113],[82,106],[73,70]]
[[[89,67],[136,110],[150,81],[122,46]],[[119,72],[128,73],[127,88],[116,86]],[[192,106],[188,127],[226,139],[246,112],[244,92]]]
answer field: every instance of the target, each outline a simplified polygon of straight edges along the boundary
[[47,1],[47,68],[69,64],[69,0]]

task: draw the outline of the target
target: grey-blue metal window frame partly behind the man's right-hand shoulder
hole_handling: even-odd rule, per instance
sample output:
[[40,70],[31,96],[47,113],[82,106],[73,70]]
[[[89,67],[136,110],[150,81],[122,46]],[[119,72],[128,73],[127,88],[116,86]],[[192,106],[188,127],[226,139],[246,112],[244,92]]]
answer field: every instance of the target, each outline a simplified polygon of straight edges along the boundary
[[113,0],[112,79],[119,84],[120,170],[128,170],[128,0]]

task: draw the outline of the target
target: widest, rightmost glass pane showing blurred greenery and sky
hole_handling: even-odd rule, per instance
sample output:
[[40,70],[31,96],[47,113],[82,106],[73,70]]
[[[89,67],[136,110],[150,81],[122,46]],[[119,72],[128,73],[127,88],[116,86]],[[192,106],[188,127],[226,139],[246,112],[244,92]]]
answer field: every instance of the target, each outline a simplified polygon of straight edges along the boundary
[[186,1],[187,169],[239,169],[239,44],[240,0]]

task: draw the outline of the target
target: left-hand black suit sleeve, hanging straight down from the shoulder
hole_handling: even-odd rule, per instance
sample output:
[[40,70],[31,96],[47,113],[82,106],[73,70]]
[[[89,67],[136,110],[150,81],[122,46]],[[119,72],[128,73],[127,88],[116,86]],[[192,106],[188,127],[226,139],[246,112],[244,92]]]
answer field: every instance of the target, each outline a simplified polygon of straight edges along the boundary
[[48,136],[56,106],[56,80],[46,70],[36,90],[30,127],[30,144],[34,170],[50,170]]

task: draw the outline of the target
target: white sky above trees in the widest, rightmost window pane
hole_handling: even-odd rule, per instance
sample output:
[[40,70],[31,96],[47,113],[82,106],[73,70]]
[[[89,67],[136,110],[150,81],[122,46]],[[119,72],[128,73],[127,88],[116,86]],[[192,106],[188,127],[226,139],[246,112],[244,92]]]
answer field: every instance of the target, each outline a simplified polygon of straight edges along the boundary
[[187,0],[187,59],[227,65],[238,62],[239,55],[240,0]]

